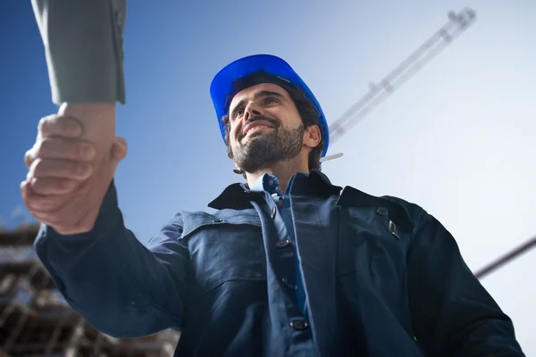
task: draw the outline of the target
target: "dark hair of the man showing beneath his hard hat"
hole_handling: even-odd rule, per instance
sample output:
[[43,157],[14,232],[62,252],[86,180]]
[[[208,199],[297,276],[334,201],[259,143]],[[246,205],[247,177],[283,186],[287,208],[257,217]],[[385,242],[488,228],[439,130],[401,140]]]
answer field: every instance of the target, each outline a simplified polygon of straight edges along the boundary
[[[243,81],[246,81],[247,79],[244,79]],[[316,109],[314,108],[314,104],[311,101],[311,99],[306,97],[306,94],[301,89],[298,89],[297,87],[293,87],[286,82],[284,82],[282,79],[270,79],[266,82],[275,83],[278,86],[285,89],[288,93],[294,104],[296,105],[297,112],[299,113],[299,116],[304,123],[304,126],[307,128],[316,125],[320,128],[321,131],[321,140],[318,145],[316,145],[313,150],[311,150],[311,153],[309,153],[309,170],[320,170],[320,158],[322,156],[322,152],[325,147],[325,137],[323,135],[323,128],[320,124],[320,118],[318,117],[318,114],[316,112]],[[257,81],[258,83],[262,83],[262,81]],[[242,87],[244,89],[246,87]],[[239,90],[236,90],[238,92]],[[230,123],[229,123],[229,115],[223,115],[222,122],[225,125],[225,144],[227,145],[227,155],[230,157],[230,159],[233,159],[232,150],[230,148]],[[244,178],[246,178],[246,173],[242,172]]]

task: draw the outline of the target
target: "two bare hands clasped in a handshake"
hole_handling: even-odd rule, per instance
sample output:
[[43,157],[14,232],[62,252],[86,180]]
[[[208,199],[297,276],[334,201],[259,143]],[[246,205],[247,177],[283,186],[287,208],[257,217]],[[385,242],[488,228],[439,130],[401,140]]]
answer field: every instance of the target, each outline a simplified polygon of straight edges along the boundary
[[39,121],[24,157],[21,194],[29,212],[60,234],[88,232],[126,149],[115,137],[114,104],[64,104]]

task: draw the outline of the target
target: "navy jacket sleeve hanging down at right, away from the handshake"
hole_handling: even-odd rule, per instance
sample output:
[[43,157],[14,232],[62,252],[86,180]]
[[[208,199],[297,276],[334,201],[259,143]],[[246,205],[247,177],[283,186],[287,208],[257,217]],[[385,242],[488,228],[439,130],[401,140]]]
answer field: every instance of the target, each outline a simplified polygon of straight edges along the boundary
[[523,356],[508,316],[464,262],[454,237],[431,215],[408,255],[415,337],[433,356]]

